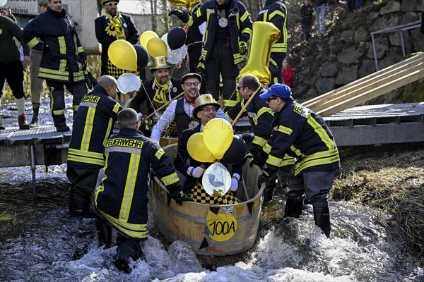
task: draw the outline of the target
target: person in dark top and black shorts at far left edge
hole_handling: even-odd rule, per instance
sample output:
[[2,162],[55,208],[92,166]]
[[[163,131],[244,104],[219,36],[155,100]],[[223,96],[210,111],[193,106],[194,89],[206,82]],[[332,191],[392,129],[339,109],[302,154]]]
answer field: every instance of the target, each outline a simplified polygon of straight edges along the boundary
[[[4,82],[11,87],[18,109],[19,129],[29,129],[25,116],[25,94],[23,92],[23,68],[30,64],[30,49],[22,37],[22,30],[7,16],[0,16],[0,97],[3,95]],[[18,39],[23,47],[24,61],[20,61],[19,49],[13,37]],[[4,125],[0,123],[0,129]]]

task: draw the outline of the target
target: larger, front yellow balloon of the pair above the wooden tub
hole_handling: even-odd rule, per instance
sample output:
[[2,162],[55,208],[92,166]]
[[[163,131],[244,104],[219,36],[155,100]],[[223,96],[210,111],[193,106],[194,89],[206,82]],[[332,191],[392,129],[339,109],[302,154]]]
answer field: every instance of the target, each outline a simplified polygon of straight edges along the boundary
[[222,159],[232,142],[232,126],[223,118],[213,118],[204,128],[204,142],[216,159]]

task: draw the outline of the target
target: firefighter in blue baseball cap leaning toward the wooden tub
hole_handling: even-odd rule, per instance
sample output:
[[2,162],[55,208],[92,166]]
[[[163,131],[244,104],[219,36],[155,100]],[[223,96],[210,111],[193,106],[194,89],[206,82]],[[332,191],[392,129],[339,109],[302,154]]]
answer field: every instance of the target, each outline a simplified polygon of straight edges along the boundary
[[312,202],[315,224],[329,237],[331,223],[327,195],[333,186],[335,171],[340,168],[338,149],[324,119],[296,103],[290,94],[290,87],[275,84],[260,96],[276,114],[271,138],[261,151],[266,153],[269,146],[269,154],[259,154],[259,159],[266,161],[258,183],[278,171],[285,154],[297,158],[287,178],[290,191],[286,194],[285,216],[299,217],[302,214],[305,195]]

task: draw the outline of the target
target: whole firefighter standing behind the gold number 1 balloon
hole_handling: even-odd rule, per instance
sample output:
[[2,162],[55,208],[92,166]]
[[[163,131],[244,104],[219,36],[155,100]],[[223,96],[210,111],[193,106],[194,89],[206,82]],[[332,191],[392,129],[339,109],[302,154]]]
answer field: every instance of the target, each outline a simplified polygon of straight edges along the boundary
[[266,0],[264,8],[259,11],[258,21],[273,23],[281,31],[280,39],[272,44],[269,58],[271,83],[283,82],[283,61],[287,54],[287,8],[281,0]]

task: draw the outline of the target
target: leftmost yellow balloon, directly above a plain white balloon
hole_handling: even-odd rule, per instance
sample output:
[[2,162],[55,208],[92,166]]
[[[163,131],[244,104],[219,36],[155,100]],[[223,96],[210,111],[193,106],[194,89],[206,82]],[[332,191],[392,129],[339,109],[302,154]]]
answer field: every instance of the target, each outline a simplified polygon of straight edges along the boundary
[[117,66],[129,71],[137,71],[137,53],[134,46],[126,40],[118,39],[110,44],[107,50],[110,61]]

